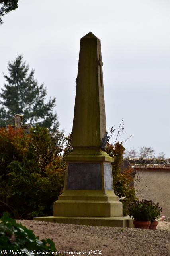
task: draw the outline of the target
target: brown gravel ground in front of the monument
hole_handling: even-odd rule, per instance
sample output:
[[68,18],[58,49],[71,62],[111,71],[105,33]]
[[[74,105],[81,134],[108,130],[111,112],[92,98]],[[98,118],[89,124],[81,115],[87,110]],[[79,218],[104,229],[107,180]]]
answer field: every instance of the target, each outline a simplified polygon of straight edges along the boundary
[[[20,221],[18,221],[20,222]],[[58,224],[21,220],[40,239],[50,238],[61,252],[96,250],[102,256],[170,256],[170,222],[158,222],[157,230]],[[71,254],[72,252],[72,254]],[[99,252],[99,254],[98,254]],[[64,254],[61,254],[64,255]]]

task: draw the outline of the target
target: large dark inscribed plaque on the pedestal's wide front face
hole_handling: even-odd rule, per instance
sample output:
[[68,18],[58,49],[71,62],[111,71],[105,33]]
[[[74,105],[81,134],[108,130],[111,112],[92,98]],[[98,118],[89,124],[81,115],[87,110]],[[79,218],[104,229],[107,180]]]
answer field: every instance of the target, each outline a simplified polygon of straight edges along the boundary
[[100,164],[69,164],[68,190],[102,190]]

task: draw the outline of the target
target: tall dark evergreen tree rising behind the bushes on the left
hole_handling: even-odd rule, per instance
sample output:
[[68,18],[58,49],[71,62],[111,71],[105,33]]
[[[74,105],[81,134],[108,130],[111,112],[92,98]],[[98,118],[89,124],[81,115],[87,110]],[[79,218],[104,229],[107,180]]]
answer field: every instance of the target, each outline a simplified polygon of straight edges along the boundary
[[45,103],[47,95],[44,84],[38,85],[34,70],[30,74],[29,65],[19,55],[13,62],[8,62],[9,76],[4,75],[6,84],[0,93],[0,127],[14,122],[13,116],[23,115],[23,123],[39,124],[46,128],[59,127],[57,114],[53,114],[55,97]]

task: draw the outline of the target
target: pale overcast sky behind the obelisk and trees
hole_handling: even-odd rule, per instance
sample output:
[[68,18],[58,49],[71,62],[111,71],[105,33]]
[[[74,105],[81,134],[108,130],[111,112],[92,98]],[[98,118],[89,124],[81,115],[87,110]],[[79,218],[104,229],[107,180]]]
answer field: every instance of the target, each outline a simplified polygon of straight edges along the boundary
[[72,131],[80,38],[101,40],[106,124],[123,120],[125,148],[170,157],[170,1],[19,0],[0,26],[2,72],[17,54],[56,96],[60,129]]

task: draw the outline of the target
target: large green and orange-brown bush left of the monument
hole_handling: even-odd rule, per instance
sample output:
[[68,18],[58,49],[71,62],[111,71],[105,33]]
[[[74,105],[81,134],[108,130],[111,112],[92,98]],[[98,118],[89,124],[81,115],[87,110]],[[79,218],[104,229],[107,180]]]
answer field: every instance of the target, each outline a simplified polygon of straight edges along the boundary
[[13,218],[51,215],[63,190],[65,161],[63,132],[35,127],[0,129],[0,215]]

